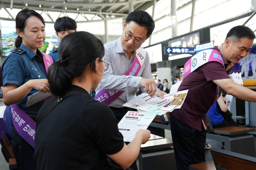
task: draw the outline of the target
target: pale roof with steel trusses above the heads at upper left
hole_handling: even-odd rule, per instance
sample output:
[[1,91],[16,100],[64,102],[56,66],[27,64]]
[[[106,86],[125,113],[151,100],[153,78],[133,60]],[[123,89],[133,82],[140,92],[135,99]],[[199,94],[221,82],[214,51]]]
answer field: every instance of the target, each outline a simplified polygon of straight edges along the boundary
[[46,23],[62,16],[78,23],[99,22],[126,18],[129,10],[146,10],[152,5],[153,0],[0,0],[0,10],[8,14],[0,19],[15,20],[17,9],[32,8],[47,18]]

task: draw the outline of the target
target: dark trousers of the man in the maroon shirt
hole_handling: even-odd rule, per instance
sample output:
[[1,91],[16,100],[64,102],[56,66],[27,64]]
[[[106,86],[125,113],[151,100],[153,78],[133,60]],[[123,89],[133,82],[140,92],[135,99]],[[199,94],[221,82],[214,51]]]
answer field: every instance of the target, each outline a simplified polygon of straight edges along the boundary
[[169,114],[177,170],[189,170],[189,165],[205,162],[207,130],[196,130]]

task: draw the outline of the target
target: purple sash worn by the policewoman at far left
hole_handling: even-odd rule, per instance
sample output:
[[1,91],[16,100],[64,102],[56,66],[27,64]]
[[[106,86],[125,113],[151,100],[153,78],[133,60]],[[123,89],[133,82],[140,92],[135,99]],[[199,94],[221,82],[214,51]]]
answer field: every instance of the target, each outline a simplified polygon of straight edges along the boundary
[[[44,55],[44,65],[46,73],[48,73],[49,67],[52,65],[52,57],[46,53],[41,53]],[[44,99],[44,102],[50,97]],[[12,122],[17,130],[18,134],[26,140],[33,148],[35,148],[35,134],[36,134],[36,123],[16,104],[11,105],[12,111]]]

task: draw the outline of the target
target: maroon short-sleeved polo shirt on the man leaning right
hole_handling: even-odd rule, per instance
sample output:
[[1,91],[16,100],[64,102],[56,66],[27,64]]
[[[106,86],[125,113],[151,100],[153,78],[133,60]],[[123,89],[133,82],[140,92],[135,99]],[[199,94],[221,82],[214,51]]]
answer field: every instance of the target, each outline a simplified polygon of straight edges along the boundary
[[[218,46],[212,49],[220,51]],[[227,65],[225,64],[225,68]],[[171,114],[186,125],[202,130],[202,116],[216,102],[217,85],[212,80],[229,79],[228,73],[231,70],[226,72],[221,63],[210,61],[187,75],[178,89],[188,89],[186,100],[180,109],[175,109]],[[206,118],[203,121],[207,126]]]

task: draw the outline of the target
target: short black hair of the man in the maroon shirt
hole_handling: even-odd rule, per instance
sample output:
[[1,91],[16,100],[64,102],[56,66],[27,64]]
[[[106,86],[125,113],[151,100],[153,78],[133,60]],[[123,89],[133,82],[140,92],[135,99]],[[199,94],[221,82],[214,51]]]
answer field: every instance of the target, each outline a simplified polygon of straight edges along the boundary
[[227,39],[233,39],[234,41],[240,41],[241,38],[248,38],[250,40],[255,39],[254,32],[247,26],[235,26],[231,28],[226,36]]

